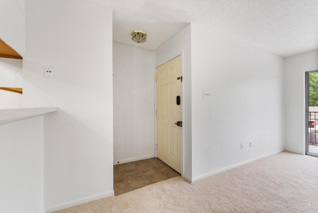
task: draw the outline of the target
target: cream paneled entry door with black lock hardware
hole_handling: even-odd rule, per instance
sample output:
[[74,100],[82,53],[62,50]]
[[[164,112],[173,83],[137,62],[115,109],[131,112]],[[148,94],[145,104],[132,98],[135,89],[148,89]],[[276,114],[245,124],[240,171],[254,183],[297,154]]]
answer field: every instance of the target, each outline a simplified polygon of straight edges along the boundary
[[[157,157],[181,173],[181,56],[157,68]],[[179,99],[179,100],[180,100]]]

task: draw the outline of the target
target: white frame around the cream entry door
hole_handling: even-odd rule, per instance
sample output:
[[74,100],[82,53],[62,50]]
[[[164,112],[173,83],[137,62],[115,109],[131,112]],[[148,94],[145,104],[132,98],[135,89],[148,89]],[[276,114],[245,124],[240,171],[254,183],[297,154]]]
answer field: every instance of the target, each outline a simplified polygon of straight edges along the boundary
[[[181,56],[181,76],[183,76],[183,67],[184,67],[184,54],[183,51],[175,53],[170,55],[169,57],[166,57],[164,60],[160,61],[158,64],[155,65],[155,79],[154,79],[154,83],[155,83],[155,157],[157,158],[157,116],[156,116],[156,110],[157,110],[157,82],[156,82],[156,76],[157,76],[157,68],[165,63],[167,63],[168,61],[171,61],[172,59]],[[183,120],[183,106],[184,106],[184,90],[183,90],[183,84],[181,83],[181,120]],[[183,128],[181,127],[181,176],[183,177]]]

